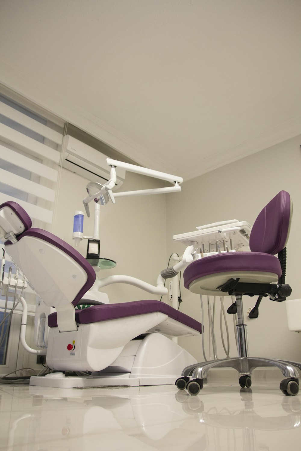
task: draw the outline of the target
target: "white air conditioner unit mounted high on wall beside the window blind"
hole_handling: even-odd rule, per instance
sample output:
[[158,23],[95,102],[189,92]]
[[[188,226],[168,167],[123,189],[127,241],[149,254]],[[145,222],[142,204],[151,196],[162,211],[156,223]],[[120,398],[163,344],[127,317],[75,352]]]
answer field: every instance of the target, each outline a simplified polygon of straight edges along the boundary
[[[110,179],[111,168],[107,165],[107,156],[102,152],[70,135],[64,137],[63,150],[63,168],[102,185]],[[120,188],[125,180],[124,169],[118,169],[116,174],[116,186],[113,190]]]

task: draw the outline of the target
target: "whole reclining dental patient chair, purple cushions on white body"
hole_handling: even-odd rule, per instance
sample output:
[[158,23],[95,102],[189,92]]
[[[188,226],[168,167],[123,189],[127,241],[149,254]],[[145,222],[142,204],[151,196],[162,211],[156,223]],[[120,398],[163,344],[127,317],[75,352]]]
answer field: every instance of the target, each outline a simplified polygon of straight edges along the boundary
[[[48,316],[46,363],[54,372],[31,377],[31,385],[95,387],[174,384],[196,360],[172,336],[199,335],[202,325],[157,301],[74,307],[92,287],[93,267],[72,246],[32,228],[16,202],[0,205],[5,251],[29,285],[56,312]],[[89,301],[86,304],[90,304]],[[79,374],[66,375],[66,372]]]

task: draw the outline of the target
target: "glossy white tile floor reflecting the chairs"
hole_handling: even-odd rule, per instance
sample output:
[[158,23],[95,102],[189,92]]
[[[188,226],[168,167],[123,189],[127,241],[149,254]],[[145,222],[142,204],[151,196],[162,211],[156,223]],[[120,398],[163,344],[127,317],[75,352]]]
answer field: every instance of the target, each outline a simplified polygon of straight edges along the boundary
[[301,395],[278,382],[56,389],[0,385],[0,450],[283,451],[301,449]]

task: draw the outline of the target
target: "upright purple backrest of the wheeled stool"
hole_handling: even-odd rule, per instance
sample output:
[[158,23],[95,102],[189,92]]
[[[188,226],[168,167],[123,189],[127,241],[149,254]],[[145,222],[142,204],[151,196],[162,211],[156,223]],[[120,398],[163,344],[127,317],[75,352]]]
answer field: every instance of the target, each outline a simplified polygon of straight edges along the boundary
[[250,234],[250,250],[275,255],[287,244],[292,220],[292,200],[280,191],[259,213]]

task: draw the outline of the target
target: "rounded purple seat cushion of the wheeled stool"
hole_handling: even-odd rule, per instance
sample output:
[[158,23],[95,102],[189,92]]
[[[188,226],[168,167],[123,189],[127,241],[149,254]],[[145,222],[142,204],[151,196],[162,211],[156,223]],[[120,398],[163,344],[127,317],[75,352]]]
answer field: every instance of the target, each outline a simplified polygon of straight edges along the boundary
[[183,273],[184,286],[189,289],[190,283],[199,279],[199,277],[218,274],[219,272],[233,272],[233,277],[235,277],[237,271],[272,272],[277,274],[278,277],[282,274],[278,258],[271,254],[227,252],[210,255],[190,263]]

